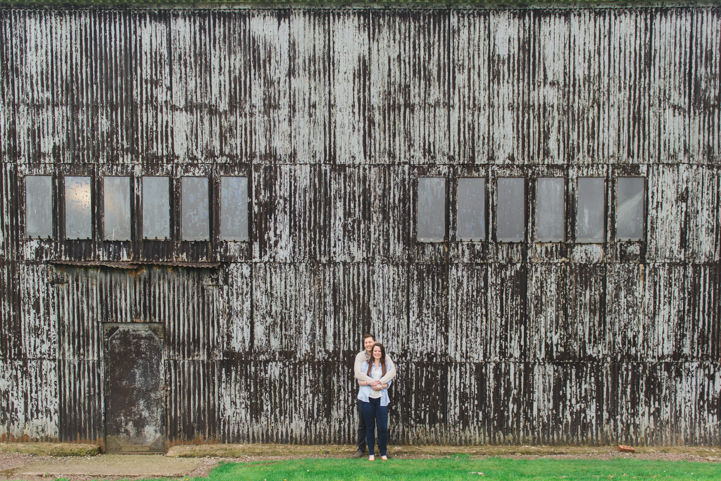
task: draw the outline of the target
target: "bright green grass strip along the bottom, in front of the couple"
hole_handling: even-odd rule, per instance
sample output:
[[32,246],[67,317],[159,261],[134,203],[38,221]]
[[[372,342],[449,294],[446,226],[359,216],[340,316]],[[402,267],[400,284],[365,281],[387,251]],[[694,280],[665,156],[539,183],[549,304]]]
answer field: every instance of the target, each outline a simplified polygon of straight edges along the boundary
[[209,481],[295,480],[636,480],[721,479],[721,464],[638,459],[510,459],[453,456],[433,459],[302,459],[223,464]]

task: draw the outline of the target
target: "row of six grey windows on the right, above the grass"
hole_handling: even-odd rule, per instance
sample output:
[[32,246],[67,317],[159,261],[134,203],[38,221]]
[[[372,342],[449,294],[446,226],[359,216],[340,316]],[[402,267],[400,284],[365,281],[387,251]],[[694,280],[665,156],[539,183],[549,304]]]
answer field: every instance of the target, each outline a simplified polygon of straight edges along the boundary
[[[618,240],[642,240],[644,236],[645,180],[616,179]],[[536,179],[534,240],[566,240],[566,179]],[[459,178],[456,192],[456,239],[484,241],[486,233],[486,179]],[[496,180],[496,240],[523,242],[526,233],[526,181],[519,177]],[[416,238],[419,242],[442,242],[446,235],[446,179],[418,179]],[[579,177],[576,184],[575,241],[601,243],[606,238],[606,188],[602,177]]]

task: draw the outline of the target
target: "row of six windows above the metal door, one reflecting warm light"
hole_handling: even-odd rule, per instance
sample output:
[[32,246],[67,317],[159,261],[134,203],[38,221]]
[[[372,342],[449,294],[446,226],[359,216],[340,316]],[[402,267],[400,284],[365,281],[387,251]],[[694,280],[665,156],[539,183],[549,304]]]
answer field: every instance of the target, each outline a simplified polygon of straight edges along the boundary
[[[131,240],[131,178],[103,178],[105,240]],[[181,238],[210,239],[209,185],[207,177],[181,178]],[[64,178],[65,238],[92,238],[91,178]],[[170,179],[142,178],[142,238],[170,239]],[[25,177],[25,232],[28,237],[52,237],[52,177]],[[220,231],[222,240],[248,240],[248,179],[220,178]]]

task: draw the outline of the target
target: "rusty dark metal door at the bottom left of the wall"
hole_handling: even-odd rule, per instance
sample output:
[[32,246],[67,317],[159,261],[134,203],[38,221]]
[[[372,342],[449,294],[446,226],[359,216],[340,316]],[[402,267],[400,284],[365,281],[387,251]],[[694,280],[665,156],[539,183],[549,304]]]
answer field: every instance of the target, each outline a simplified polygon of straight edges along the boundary
[[105,326],[107,452],[165,450],[162,357],[162,325]]

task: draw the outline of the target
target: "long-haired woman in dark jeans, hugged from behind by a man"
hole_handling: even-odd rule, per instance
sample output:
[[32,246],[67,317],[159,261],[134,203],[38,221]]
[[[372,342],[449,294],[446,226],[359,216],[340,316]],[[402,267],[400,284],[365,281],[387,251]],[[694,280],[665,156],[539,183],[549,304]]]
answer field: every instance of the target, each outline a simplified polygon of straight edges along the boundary
[[388,383],[382,383],[380,379],[385,375],[386,350],[381,344],[374,344],[371,350],[370,361],[363,363],[363,369],[373,381],[358,381],[358,400],[361,402],[363,420],[366,424],[366,443],[368,444],[368,461],[375,460],[375,430],[378,425],[378,447],[381,451],[381,459],[387,460],[388,448]]

